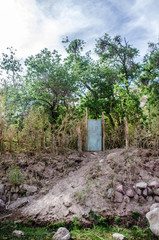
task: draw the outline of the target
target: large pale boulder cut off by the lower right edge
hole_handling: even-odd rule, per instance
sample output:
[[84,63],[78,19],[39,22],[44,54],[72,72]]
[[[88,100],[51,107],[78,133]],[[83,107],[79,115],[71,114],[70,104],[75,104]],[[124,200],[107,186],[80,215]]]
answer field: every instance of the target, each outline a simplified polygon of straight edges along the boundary
[[146,214],[146,218],[149,221],[151,231],[159,236],[159,208],[154,208],[152,211]]

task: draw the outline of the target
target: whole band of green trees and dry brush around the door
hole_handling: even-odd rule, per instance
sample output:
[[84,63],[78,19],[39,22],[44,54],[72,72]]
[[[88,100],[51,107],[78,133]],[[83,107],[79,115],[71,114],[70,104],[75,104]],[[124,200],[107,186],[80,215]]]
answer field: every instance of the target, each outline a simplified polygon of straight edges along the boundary
[[[63,40],[67,56],[47,48],[25,61],[8,48],[0,59],[1,151],[67,151],[77,148],[80,126],[85,149],[85,108],[89,118],[105,116],[105,147],[130,144],[158,148],[159,43],[137,62],[139,50],[121,36],[97,39],[95,53],[85,42]],[[144,99],[144,102],[143,102]]]

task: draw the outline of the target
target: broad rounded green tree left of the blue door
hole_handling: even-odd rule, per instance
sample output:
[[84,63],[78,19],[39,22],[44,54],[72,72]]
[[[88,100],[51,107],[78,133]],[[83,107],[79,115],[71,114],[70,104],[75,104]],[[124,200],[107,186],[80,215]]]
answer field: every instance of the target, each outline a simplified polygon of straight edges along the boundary
[[26,59],[26,100],[31,105],[43,106],[56,122],[63,108],[75,97],[76,80],[67,67],[61,63],[57,51],[42,50]]

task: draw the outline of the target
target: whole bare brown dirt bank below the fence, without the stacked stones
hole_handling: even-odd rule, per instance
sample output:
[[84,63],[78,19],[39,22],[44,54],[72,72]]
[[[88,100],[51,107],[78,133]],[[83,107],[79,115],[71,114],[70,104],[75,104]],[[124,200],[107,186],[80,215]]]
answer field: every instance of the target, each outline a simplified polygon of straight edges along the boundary
[[[159,178],[159,152],[149,149],[113,149],[105,152],[68,152],[67,155],[37,154],[16,156],[15,163],[27,174],[27,184],[36,184],[38,194],[19,209],[24,219],[35,222],[70,221],[75,217],[88,222],[89,212],[114,218],[144,215],[156,201],[148,195],[138,199],[125,196],[137,182]],[[5,156],[2,182],[13,156]],[[123,186],[123,200],[115,200],[116,187]],[[112,195],[108,197],[108,190]],[[16,210],[17,211],[17,210]]]

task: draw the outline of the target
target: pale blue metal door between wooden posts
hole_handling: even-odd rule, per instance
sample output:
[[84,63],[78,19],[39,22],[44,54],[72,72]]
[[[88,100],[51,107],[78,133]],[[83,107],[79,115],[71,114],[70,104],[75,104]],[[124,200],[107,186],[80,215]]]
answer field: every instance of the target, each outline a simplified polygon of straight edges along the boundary
[[87,150],[102,151],[102,120],[89,119],[87,131]]

